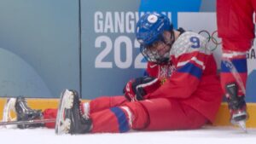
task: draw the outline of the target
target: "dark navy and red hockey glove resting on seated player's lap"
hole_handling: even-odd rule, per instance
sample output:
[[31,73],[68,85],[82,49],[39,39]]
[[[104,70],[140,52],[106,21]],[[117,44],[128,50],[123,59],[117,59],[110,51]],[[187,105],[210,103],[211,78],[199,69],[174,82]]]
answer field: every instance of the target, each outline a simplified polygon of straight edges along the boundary
[[153,77],[141,77],[131,79],[123,89],[125,98],[128,101],[141,101],[144,96],[154,92],[155,89],[160,87],[160,80]]

